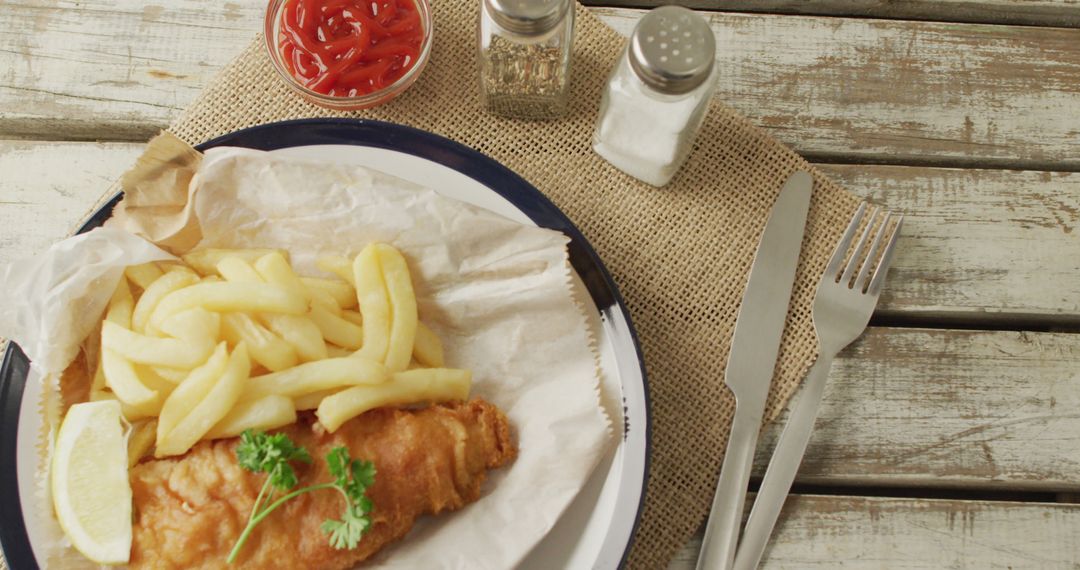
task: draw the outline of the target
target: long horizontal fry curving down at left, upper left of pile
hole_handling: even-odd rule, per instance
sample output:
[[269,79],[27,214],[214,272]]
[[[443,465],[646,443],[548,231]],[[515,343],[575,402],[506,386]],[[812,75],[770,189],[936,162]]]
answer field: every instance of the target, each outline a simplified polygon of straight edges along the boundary
[[[294,295],[276,285],[230,282],[197,283],[165,296],[153,310],[149,323],[160,326],[170,316],[195,307],[218,312],[254,311],[292,315],[301,315],[308,312],[308,302],[303,297]],[[137,311],[136,307],[136,313]]]

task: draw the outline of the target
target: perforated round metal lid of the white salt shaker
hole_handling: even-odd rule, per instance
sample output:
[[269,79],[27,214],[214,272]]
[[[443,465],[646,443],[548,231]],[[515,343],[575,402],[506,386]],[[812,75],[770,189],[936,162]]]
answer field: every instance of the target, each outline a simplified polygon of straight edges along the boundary
[[630,66],[647,85],[681,94],[713,70],[716,38],[697,12],[667,5],[642,17],[630,37]]

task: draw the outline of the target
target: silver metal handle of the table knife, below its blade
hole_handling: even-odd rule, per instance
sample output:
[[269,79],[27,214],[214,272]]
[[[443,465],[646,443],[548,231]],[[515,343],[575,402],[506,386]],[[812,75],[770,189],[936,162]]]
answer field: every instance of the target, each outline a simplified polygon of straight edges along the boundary
[[750,406],[735,405],[728,448],[720,466],[720,480],[713,497],[713,508],[705,525],[705,538],[698,555],[698,570],[729,570],[734,562],[739,525],[746,503],[746,487],[754,463],[754,448],[761,429],[761,417],[743,412]]

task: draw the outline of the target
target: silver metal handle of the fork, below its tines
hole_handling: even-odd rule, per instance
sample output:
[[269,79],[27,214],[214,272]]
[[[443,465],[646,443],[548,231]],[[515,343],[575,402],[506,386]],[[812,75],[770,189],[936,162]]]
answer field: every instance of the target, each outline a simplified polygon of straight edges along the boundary
[[735,570],[754,570],[761,562],[765,546],[777,526],[780,508],[792,490],[795,473],[806,454],[832,365],[833,356],[822,354],[807,372],[802,395],[780,434],[777,449],[772,452],[761,488],[750,512],[750,519],[746,520],[746,529],[735,554]]

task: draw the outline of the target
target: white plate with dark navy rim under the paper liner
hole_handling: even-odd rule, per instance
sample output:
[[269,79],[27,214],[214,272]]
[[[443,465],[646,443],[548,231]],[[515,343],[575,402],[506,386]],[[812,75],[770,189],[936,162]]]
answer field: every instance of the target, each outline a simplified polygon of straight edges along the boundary
[[[578,297],[593,309],[589,315],[600,352],[602,404],[622,425],[622,437],[521,568],[621,566],[640,517],[648,478],[648,391],[629,312],[599,258],[569,219],[532,186],[491,159],[406,126],[342,119],[289,121],[239,131],[199,148],[215,146],[258,148],[368,166],[515,221],[552,228],[570,236]],[[102,223],[113,203],[97,213],[83,231]],[[16,470],[12,467],[17,464],[19,502],[32,504],[33,439],[40,418],[29,403],[37,402],[35,396],[40,391],[31,383],[24,397],[26,374],[25,356],[14,347],[9,348],[0,368],[0,465],[4,465],[0,467],[0,493],[14,494],[11,491]],[[22,413],[18,408],[23,408]],[[12,429],[16,421],[17,443],[16,430]],[[32,568],[24,516],[32,518],[37,514],[23,513],[11,503],[14,501],[0,506],[0,542],[12,570]],[[29,544],[33,542],[30,537]]]

